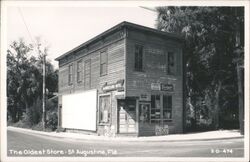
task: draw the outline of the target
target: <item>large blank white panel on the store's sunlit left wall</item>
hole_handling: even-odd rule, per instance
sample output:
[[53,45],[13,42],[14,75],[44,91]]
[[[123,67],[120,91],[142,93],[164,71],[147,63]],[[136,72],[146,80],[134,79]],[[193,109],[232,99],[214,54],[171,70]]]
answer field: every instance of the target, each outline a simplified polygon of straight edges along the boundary
[[97,90],[62,96],[62,127],[96,131]]

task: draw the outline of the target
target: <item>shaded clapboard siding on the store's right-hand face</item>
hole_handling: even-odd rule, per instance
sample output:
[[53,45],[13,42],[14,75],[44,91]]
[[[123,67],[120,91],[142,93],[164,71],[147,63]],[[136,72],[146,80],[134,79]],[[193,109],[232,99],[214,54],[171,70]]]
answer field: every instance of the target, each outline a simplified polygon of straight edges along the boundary
[[[143,46],[143,70],[135,71],[135,45]],[[141,31],[128,31],[126,43],[126,96],[140,96],[141,94],[159,94],[172,96],[172,121],[168,123],[170,133],[182,132],[183,110],[183,71],[181,44],[162,37],[143,33]],[[175,74],[168,75],[167,53],[174,53]],[[165,83],[174,86],[173,92],[154,91],[152,83]],[[152,135],[155,126],[140,125],[140,135]]]

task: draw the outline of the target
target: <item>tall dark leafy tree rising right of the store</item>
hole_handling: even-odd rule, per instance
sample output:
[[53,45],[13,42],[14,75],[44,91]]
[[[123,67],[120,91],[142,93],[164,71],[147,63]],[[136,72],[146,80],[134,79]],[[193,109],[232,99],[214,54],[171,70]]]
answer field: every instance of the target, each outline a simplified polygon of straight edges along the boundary
[[[213,114],[214,129],[220,125],[221,109],[230,107],[224,96],[237,93],[235,35],[240,7],[158,7],[157,28],[181,35],[185,41],[187,96],[195,105],[203,96]],[[243,16],[244,17],[244,16]],[[234,100],[234,102],[238,102]],[[199,107],[198,107],[199,108]]]

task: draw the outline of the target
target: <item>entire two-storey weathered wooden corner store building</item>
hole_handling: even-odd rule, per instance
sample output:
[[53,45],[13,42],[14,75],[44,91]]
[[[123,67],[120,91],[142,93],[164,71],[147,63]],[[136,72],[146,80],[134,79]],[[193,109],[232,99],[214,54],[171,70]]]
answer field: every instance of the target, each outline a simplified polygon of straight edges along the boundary
[[60,127],[105,136],[182,133],[182,58],[180,37],[129,22],[61,55]]

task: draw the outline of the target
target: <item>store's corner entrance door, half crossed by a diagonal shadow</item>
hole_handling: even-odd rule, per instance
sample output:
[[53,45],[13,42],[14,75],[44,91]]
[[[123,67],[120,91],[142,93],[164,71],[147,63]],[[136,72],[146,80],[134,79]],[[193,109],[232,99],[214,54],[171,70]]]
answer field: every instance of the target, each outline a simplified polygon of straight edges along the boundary
[[135,100],[118,100],[119,133],[135,133]]

